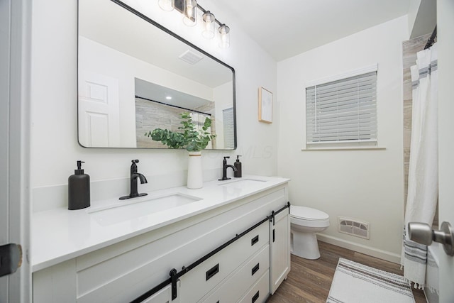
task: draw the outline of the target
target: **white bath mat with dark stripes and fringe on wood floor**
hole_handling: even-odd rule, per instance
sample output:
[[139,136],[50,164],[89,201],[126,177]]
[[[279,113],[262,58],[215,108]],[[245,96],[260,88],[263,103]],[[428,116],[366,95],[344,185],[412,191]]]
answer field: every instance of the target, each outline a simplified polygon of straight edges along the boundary
[[415,301],[405,277],[339,258],[326,303],[365,302]]

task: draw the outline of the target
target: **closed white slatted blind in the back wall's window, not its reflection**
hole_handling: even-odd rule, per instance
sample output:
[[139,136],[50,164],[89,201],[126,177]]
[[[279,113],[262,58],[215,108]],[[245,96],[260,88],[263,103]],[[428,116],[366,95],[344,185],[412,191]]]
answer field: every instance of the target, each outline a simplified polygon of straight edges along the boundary
[[377,141],[377,71],[306,88],[306,143]]

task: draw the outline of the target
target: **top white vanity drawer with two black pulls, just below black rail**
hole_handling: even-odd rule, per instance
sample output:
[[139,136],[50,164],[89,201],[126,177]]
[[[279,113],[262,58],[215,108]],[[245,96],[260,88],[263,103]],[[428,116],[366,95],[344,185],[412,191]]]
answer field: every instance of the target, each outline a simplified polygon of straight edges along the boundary
[[[180,302],[194,303],[212,290],[236,268],[264,246],[269,247],[268,222],[265,221],[180,278]],[[268,248],[269,249],[269,248]],[[268,261],[269,262],[269,261]]]

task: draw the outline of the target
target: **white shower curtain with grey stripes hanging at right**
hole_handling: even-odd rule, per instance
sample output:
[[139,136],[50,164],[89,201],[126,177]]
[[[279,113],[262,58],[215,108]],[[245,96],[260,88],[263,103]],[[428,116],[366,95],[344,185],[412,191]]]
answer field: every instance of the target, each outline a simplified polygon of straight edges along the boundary
[[425,282],[427,246],[409,241],[409,222],[432,225],[438,199],[438,114],[436,44],[417,53],[411,67],[413,113],[401,264],[404,276],[422,288]]

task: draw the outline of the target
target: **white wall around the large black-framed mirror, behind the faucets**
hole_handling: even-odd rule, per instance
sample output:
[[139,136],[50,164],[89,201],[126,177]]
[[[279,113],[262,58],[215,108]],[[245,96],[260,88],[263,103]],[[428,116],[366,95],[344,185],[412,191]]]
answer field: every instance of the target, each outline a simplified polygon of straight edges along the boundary
[[[204,151],[205,178],[221,177],[222,156],[242,154],[245,174],[277,173],[277,120],[271,125],[259,123],[258,87],[276,92],[277,66],[240,28],[234,16],[224,16],[211,1],[201,5],[216,13],[216,18],[231,27],[231,47],[217,48],[215,41],[206,42],[198,28],[182,26],[181,15],[166,13],[157,1],[141,1],[152,5],[150,18],[182,35],[236,70],[236,104],[238,150]],[[177,23],[174,21],[178,21]],[[31,184],[33,189],[67,184],[74,173],[76,160],[84,160],[85,172],[92,182],[121,179],[121,187],[109,188],[113,197],[128,190],[131,160],[138,158],[139,172],[149,184],[143,190],[185,184],[187,153],[184,150],[139,150],[82,148],[77,143],[77,1],[42,0],[33,4],[32,108],[31,108]],[[273,116],[278,116],[277,111]],[[168,180],[162,181],[162,180]],[[63,189],[56,197],[39,198],[35,203],[66,203]],[[104,191],[104,192],[106,192]],[[41,197],[41,195],[38,195]],[[45,196],[44,194],[42,196]],[[93,194],[92,194],[93,198]],[[39,201],[38,201],[39,200]],[[45,205],[41,205],[45,209]]]

